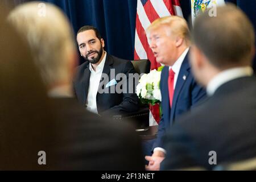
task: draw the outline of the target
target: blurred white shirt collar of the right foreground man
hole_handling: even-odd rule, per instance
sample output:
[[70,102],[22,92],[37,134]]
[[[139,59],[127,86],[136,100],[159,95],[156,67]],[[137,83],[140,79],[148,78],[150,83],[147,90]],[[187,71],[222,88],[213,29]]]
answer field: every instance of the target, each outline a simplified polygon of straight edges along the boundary
[[223,84],[236,78],[253,75],[253,69],[251,67],[237,67],[226,69],[218,73],[207,84],[207,94],[212,96],[214,92]]

